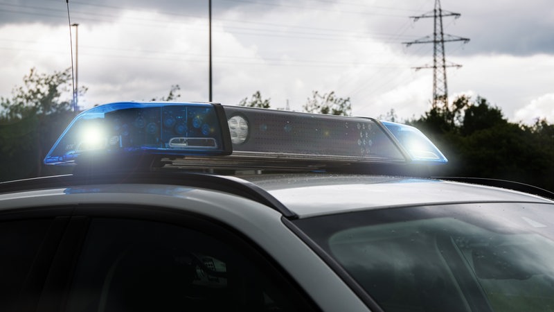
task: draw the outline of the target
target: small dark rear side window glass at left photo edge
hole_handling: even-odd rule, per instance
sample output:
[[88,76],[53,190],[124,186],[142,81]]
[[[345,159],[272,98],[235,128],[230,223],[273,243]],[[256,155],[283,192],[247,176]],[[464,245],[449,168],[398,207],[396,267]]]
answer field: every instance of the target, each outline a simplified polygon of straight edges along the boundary
[[0,222],[0,311],[15,311],[52,219]]

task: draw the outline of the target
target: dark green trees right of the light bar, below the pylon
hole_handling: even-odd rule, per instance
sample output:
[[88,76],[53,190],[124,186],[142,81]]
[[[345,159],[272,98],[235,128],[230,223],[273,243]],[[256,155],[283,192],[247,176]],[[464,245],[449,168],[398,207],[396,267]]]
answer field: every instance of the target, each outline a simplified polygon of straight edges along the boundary
[[478,97],[456,98],[450,107],[431,107],[410,122],[449,159],[445,175],[488,177],[554,191],[554,125],[510,123],[498,107]]

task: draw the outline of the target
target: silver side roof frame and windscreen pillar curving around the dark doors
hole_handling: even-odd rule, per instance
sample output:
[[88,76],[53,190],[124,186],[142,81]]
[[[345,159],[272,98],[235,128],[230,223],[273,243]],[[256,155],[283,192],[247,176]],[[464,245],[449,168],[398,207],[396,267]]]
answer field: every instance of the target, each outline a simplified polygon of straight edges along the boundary
[[252,200],[163,184],[102,184],[0,195],[0,211],[78,204],[161,207],[213,218],[255,241],[323,311],[368,311],[340,277],[283,224],[277,211]]

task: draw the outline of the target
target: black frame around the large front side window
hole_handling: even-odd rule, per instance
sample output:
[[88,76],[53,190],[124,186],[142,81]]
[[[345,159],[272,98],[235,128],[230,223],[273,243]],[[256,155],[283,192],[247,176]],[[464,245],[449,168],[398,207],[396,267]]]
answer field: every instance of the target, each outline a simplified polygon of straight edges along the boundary
[[[44,294],[50,294],[50,300],[41,300],[37,311],[66,311],[71,285],[75,278],[83,243],[87,237],[88,227],[95,218],[149,220],[158,223],[187,227],[227,243],[247,259],[258,264],[264,272],[280,283],[287,285],[287,294],[296,297],[303,306],[313,311],[321,311],[319,306],[307,295],[292,276],[286,272],[275,259],[254,243],[239,230],[208,216],[181,209],[126,204],[86,204],[75,206],[73,217],[64,234],[71,237],[65,245],[60,245],[53,270],[48,276]],[[73,226],[71,226],[73,225]],[[62,270],[62,268],[64,268]],[[62,289],[63,291],[60,291]],[[43,295],[44,297],[44,295]]]

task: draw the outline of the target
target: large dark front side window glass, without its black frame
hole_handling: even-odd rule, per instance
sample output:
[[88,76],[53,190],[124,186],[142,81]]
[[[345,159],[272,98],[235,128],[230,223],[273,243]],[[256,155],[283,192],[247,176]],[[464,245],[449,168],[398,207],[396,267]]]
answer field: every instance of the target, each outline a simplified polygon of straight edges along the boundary
[[267,261],[229,236],[146,220],[93,220],[67,310],[310,311]]

